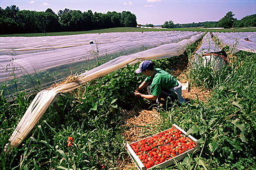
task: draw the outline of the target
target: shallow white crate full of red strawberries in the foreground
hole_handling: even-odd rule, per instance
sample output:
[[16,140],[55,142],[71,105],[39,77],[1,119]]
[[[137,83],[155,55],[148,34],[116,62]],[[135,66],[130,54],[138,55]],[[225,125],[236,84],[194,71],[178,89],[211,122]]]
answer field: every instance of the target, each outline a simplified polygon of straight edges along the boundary
[[182,160],[188,153],[199,151],[199,141],[177,125],[158,134],[127,143],[127,152],[141,170],[165,168]]

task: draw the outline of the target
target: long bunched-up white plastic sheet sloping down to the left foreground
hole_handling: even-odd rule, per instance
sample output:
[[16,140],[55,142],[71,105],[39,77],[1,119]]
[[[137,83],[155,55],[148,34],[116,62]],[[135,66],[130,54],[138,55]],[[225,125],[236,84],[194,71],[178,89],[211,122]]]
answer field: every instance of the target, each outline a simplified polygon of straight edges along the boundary
[[62,84],[51,89],[44,89],[35,96],[23,118],[19,121],[17,128],[12,133],[12,136],[9,139],[10,143],[6,145],[4,151],[8,153],[13,147],[18,147],[21,144],[22,140],[28,136],[31,129],[33,129],[38,120],[43,116],[56,94],[60,92],[70,92],[71,90],[80,87],[95,78],[109,74],[121,67],[125,67],[127,64],[137,63],[138,61],[145,59],[163,59],[172,56],[179,56],[183,54],[188,45],[199,40],[202,36],[203,33],[196,33],[191,36],[190,39],[184,39],[178,43],[160,45],[142,52],[119,56],[116,59],[80,74],[75,82]]

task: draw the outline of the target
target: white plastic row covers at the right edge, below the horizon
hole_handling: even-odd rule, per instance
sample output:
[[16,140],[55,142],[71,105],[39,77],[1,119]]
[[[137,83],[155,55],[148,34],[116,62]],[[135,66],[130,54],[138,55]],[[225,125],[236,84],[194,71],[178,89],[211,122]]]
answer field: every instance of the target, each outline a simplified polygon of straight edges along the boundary
[[240,50],[246,52],[256,53],[256,43],[253,41],[246,41],[245,38],[254,39],[256,36],[255,32],[242,34],[240,32],[213,32],[214,36],[219,39],[219,42],[223,47],[229,46],[232,53],[237,53]]

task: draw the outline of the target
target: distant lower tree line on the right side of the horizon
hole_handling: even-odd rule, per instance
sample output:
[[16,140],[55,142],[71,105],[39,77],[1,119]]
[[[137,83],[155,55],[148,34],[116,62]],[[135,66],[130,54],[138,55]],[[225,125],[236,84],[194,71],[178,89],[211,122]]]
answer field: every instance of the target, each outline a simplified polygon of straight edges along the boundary
[[163,28],[192,28],[192,27],[203,27],[203,28],[244,28],[244,27],[256,27],[256,14],[248,15],[241,20],[234,18],[235,14],[232,11],[228,12],[219,21],[205,21],[199,23],[184,23],[174,24],[173,21],[165,21],[162,25]]

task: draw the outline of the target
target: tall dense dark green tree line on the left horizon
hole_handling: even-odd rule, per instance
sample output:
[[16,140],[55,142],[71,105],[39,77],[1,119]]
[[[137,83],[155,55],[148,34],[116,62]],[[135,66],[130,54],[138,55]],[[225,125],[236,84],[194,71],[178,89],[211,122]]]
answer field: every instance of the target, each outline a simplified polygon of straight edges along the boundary
[[136,15],[122,12],[81,12],[65,8],[55,14],[51,8],[45,12],[19,10],[12,5],[0,7],[0,34],[37,32],[86,31],[104,28],[136,27]]

